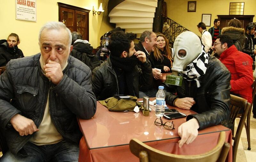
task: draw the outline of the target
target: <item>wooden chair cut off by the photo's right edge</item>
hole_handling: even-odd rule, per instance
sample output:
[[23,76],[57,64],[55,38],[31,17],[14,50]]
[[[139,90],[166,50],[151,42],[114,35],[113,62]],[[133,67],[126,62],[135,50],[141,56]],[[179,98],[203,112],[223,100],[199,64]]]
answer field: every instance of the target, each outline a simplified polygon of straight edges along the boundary
[[[252,103],[254,101],[255,94],[256,94],[256,80],[252,84]],[[245,130],[246,130],[247,142],[248,142],[247,150],[251,150],[250,120],[251,120],[251,112],[252,112],[252,103],[251,103],[251,106],[250,106],[250,109],[249,109],[249,112],[248,112],[248,115],[247,115],[247,118],[246,118],[246,122],[244,122],[244,127],[245,127]],[[239,113],[237,114],[237,118],[241,119],[241,116],[242,116],[242,114],[239,114]]]

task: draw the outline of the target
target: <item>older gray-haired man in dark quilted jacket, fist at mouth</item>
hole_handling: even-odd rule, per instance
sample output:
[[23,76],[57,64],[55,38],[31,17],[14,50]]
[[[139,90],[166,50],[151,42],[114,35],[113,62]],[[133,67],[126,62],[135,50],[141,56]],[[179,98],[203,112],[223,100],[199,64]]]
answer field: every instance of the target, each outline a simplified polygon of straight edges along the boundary
[[[41,53],[11,60],[0,76],[0,120],[9,150],[1,161],[77,161],[77,117],[96,112],[91,71],[69,56],[71,32],[62,22],[40,30]],[[11,103],[10,100],[12,100]]]

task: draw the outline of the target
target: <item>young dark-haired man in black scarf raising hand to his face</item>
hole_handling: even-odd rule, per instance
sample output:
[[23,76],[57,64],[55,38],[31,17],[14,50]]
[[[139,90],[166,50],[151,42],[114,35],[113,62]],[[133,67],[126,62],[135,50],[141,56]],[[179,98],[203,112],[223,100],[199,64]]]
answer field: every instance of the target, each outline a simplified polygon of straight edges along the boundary
[[[135,35],[116,31],[110,35],[107,61],[92,71],[92,90],[97,100],[113,95],[139,97],[139,88],[152,82],[151,64],[142,51],[134,49]],[[141,62],[141,69],[137,62]]]

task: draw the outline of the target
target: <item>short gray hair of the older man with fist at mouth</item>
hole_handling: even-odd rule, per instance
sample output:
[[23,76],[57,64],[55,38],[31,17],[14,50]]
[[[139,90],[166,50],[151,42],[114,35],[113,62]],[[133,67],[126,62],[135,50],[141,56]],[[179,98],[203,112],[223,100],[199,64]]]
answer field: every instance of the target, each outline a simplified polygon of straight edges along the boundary
[[65,29],[68,32],[69,46],[71,45],[72,35],[71,35],[70,30],[66,27],[66,25],[64,23],[57,22],[57,21],[50,21],[50,22],[47,22],[46,24],[44,24],[44,26],[40,29],[40,32],[39,32],[39,35],[38,35],[39,42],[40,42],[41,34],[42,34],[44,29],[47,29],[47,30],[49,30],[49,29],[57,29],[57,30]]

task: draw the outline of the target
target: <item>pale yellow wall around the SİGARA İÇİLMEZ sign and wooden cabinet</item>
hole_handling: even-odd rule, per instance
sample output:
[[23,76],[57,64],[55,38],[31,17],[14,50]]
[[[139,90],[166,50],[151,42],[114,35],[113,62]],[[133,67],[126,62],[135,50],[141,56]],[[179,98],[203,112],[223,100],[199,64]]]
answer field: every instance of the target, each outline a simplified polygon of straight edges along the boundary
[[[37,21],[30,22],[15,19],[16,0],[1,1],[0,39],[7,39],[10,33],[16,33],[20,37],[19,48],[23,51],[25,56],[31,56],[40,52],[38,47],[39,30],[47,21],[59,20],[59,7],[57,2],[88,10],[92,10],[92,6],[94,6],[95,9],[98,8],[98,0],[37,0]],[[103,10],[105,7],[107,6],[103,6]],[[100,19],[100,16],[102,17],[102,15],[92,16],[92,11],[89,13],[89,42],[94,48],[96,48],[100,42],[98,39],[98,19]],[[104,26],[106,26],[106,23],[103,23],[100,27]]]

